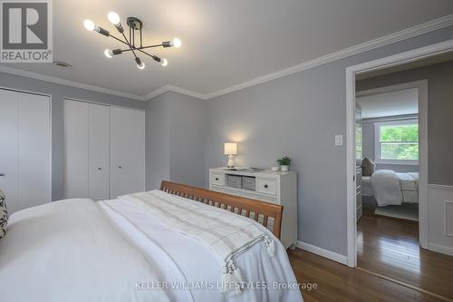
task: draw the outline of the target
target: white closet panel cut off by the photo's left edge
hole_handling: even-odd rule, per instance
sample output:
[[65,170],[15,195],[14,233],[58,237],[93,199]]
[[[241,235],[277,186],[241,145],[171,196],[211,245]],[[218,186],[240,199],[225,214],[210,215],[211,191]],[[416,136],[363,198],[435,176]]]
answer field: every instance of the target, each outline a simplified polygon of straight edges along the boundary
[[17,204],[17,108],[18,94],[0,90],[0,190],[10,212]]

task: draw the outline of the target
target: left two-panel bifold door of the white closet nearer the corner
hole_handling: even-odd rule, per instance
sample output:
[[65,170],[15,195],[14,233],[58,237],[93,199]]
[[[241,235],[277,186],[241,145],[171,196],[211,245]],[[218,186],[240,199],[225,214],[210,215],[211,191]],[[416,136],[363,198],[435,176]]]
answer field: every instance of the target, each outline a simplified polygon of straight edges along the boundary
[[64,101],[64,196],[109,199],[108,106]]

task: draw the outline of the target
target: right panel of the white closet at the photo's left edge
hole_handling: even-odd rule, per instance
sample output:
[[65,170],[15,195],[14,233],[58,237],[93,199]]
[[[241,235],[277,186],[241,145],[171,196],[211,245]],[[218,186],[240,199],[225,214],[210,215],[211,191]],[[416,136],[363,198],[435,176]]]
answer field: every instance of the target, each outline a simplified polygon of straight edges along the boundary
[[19,93],[18,109],[17,199],[25,209],[52,200],[50,100]]

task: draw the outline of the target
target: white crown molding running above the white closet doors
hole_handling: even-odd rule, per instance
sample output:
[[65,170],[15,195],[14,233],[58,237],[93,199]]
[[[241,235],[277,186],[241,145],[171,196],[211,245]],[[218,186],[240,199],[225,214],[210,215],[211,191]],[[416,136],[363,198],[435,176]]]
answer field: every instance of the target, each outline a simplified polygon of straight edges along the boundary
[[57,78],[55,76],[44,75],[42,73],[33,73],[33,72],[29,72],[29,71],[24,71],[24,70],[18,69],[18,68],[4,66],[4,65],[0,65],[0,73],[10,73],[10,74],[14,74],[14,75],[20,75],[20,76],[32,78],[35,80],[41,80],[41,81],[50,82],[50,83],[58,83],[58,84],[66,85],[66,86],[82,88],[82,89],[89,90],[89,91],[96,92],[96,93],[107,93],[107,94],[116,95],[116,96],[133,99],[133,100],[139,100],[139,101],[148,100],[148,99],[145,99],[143,96],[136,95],[136,94],[122,93],[122,92],[119,92],[116,90],[111,90],[108,88],[102,88],[99,86],[94,86],[94,85],[90,85],[90,84],[86,84],[86,83],[79,83],[79,82],[75,82],[75,81],[64,80],[61,78]]

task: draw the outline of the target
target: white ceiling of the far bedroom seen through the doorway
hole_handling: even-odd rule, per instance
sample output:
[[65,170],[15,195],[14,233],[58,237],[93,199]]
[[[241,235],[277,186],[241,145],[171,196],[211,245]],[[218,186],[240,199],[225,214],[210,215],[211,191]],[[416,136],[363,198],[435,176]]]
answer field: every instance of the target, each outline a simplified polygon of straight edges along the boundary
[[361,118],[415,114],[419,112],[418,89],[371,94],[357,98],[361,104]]

